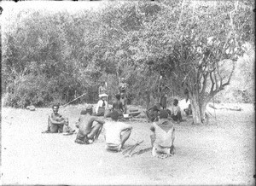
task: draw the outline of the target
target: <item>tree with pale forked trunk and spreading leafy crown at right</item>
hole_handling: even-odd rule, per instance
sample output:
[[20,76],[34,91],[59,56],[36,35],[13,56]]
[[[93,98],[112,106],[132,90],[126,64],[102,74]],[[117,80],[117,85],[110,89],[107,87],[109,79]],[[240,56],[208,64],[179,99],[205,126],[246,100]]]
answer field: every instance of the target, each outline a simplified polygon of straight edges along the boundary
[[230,84],[243,44],[253,41],[253,20],[248,19],[253,17],[253,7],[238,1],[183,1],[180,9],[174,29],[168,29],[174,24],[168,19],[172,9],[167,7],[153,30],[164,25],[169,31],[163,38],[169,36],[170,43],[164,45],[170,49],[161,47],[166,59],[160,65],[166,65],[165,74],[187,90],[194,123],[201,124],[207,102]]

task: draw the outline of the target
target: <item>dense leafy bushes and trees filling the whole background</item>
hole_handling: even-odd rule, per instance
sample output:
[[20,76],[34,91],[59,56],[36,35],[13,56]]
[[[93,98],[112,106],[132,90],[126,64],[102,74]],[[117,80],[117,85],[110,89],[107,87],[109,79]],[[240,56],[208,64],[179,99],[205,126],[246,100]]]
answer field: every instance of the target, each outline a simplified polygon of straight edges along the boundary
[[99,83],[108,82],[111,98],[119,78],[134,104],[158,100],[160,84],[171,98],[189,96],[195,123],[213,96],[253,102],[253,5],[121,2],[75,14],[13,12],[2,26],[4,104],[46,107],[83,93],[77,102],[96,102]]

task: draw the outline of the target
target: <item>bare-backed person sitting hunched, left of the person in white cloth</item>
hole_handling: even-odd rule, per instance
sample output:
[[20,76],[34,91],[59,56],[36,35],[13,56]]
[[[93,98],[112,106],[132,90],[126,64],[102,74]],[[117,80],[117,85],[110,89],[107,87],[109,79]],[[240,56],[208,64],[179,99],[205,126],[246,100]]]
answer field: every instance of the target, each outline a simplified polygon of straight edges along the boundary
[[[81,111],[79,118],[79,132],[75,142],[79,144],[89,144],[95,142],[102,131],[103,119],[91,116],[92,108],[88,106],[86,110]],[[96,125],[93,122],[96,121]]]

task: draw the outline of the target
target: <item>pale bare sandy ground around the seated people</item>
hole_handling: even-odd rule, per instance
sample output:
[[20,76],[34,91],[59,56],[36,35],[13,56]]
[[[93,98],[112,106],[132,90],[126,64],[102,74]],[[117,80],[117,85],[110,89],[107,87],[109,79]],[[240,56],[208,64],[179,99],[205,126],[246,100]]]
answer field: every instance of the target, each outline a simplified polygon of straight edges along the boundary
[[[3,184],[241,184],[254,185],[254,108],[211,110],[209,125],[176,124],[176,154],[161,160],[150,152],[131,158],[104,150],[101,134],[96,143],[79,145],[76,135],[42,134],[50,108],[28,111],[2,108]],[[74,127],[82,105],[63,108]],[[184,117],[185,118],[185,117]],[[145,119],[133,126],[126,145],[150,146]]]

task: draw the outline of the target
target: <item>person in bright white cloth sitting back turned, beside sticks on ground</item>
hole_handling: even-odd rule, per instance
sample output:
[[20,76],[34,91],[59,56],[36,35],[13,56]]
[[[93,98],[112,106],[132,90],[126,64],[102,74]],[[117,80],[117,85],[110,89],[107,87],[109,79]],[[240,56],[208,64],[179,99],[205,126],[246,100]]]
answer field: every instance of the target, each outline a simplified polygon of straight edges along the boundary
[[119,152],[131,135],[132,126],[119,122],[119,113],[117,111],[111,113],[111,119],[112,121],[104,124],[105,148],[109,151]]

